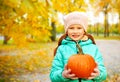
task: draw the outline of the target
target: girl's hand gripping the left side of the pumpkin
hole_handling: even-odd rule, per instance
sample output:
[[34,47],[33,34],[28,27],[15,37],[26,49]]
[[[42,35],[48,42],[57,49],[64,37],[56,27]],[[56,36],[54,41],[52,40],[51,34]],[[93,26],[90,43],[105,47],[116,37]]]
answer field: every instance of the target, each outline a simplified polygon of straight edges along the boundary
[[69,79],[78,79],[78,77],[75,76],[75,74],[71,74],[71,69],[67,69],[67,65],[64,67],[64,71],[62,72],[62,76],[64,78],[69,78]]

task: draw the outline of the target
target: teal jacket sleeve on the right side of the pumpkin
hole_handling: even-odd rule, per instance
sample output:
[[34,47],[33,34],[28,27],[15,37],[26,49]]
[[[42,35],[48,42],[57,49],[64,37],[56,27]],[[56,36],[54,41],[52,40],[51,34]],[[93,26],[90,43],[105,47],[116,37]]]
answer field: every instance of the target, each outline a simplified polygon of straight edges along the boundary
[[94,78],[94,80],[96,82],[102,82],[107,77],[107,70],[106,70],[106,67],[104,66],[103,57],[102,57],[100,51],[98,50],[98,48],[96,48],[95,60],[98,64],[98,69],[100,70],[100,75],[98,77]]

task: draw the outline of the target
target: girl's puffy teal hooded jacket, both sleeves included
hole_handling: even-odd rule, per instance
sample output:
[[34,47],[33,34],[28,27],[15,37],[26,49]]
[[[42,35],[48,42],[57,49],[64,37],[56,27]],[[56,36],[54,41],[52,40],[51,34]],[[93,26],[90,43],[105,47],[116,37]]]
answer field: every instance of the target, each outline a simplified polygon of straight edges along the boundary
[[[80,40],[78,41],[78,43],[82,47],[84,54],[90,54],[94,57],[95,61],[98,63],[98,68],[100,70],[100,75],[98,77],[92,80],[82,79],[82,82],[102,82],[103,80],[105,80],[107,77],[107,72],[98,47],[93,44],[92,40],[90,39],[88,39],[87,41]],[[49,75],[51,82],[79,82],[78,79],[71,80],[62,76],[64,65],[67,64],[69,57],[73,54],[76,54],[77,52],[78,49],[76,48],[76,43],[74,41],[72,41],[69,37],[62,40],[62,43],[58,47],[52,63]]]

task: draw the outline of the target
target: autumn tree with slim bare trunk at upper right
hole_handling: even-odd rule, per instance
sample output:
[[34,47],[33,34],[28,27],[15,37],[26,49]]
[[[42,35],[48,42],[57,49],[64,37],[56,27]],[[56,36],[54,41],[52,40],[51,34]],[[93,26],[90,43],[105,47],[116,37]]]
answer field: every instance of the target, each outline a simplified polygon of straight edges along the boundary
[[119,4],[119,0],[93,0],[91,3],[96,11],[95,14],[98,14],[99,12],[104,13],[104,37],[109,36],[108,13],[113,12],[113,10],[117,10],[119,13]]

